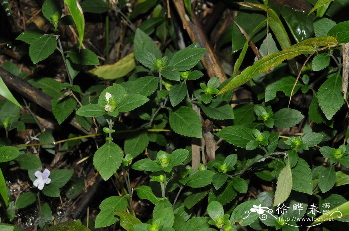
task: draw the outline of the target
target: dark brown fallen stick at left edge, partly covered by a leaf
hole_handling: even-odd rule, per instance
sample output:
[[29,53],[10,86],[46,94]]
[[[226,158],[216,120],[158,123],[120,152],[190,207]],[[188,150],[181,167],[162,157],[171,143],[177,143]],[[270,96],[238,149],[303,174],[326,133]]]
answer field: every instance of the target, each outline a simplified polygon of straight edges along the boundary
[[[1,67],[0,67],[0,77],[5,82],[8,88],[11,88],[12,90],[21,94],[25,98],[30,99],[34,103],[40,105],[45,110],[52,112],[52,108],[51,108],[52,99],[50,96],[46,95],[41,90],[35,88],[34,86],[30,85],[26,81],[16,77],[12,73],[4,70]],[[80,126],[80,124],[76,121],[75,118],[73,118],[70,121],[70,124],[85,134],[91,134],[90,132],[83,129]]]

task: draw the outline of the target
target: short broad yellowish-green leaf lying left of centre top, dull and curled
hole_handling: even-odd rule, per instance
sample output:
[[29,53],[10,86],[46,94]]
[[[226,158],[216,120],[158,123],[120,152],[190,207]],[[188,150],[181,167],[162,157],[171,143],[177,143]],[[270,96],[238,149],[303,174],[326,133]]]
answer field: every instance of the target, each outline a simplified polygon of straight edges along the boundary
[[[135,67],[136,63],[134,53],[130,53],[114,64],[101,65],[98,66],[98,68],[93,68],[89,70],[89,72],[102,79],[113,80],[126,76]],[[138,92],[134,93],[136,94]]]

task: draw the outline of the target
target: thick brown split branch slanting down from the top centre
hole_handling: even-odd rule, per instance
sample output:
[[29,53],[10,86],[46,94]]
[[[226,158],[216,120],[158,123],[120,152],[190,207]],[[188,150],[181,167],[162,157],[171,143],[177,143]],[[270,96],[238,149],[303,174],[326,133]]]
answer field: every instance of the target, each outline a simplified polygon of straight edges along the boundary
[[198,21],[195,13],[192,17],[186,14],[184,3],[182,0],[172,0],[180,19],[183,23],[184,29],[188,32],[188,35],[192,42],[198,42],[201,47],[207,49],[206,55],[202,59],[203,66],[205,67],[209,77],[219,77],[219,81],[224,82],[227,77],[224,73],[222,66],[220,65],[217,56],[214,54],[211,45],[208,43],[208,39],[202,30],[200,22]]

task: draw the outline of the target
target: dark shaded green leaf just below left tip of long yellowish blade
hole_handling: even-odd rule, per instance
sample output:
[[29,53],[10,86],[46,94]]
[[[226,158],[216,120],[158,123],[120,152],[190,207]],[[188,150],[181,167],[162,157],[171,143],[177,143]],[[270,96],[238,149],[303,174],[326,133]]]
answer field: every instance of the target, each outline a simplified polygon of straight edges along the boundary
[[202,111],[215,120],[234,119],[234,112],[229,103],[222,100],[213,99],[209,104],[197,103]]

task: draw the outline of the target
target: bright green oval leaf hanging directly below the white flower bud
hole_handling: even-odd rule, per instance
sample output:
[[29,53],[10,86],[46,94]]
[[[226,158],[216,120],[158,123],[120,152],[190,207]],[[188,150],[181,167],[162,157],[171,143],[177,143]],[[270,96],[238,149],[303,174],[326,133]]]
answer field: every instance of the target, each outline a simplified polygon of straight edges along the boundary
[[121,165],[124,153],[113,142],[106,142],[93,156],[93,165],[104,180],[108,180]]

